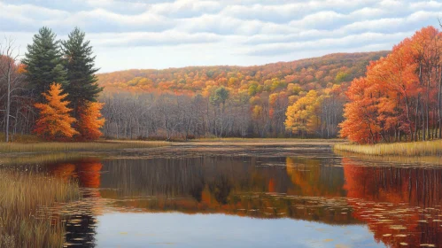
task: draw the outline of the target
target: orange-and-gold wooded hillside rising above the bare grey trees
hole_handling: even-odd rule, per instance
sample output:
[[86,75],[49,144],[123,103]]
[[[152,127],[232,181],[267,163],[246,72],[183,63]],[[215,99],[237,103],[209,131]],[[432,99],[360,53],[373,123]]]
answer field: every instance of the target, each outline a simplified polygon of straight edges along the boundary
[[[210,92],[224,86],[232,93],[247,91],[250,96],[285,90],[321,90],[330,83],[352,81],[365,74],[369,61],[389,51],[335,53],[264,66],[189,66],[164,70],[127,70],[98,74],[98,83],[107,92]],[[291,86],[289,86],[289,84]],[[290,87],[291,89],[287,89]],[[292,92],[287,92],[291,95]],[[299,92],[293,92],[299,93]]]

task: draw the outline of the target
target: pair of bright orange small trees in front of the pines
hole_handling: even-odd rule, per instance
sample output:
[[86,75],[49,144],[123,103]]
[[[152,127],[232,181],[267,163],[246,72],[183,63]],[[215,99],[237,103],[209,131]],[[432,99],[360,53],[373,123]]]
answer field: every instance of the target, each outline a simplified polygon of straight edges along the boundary
[[[46,104],[35,104],[40,111],[40,117],[35,124],[35,133],[45,139],[72,138],[80,140],[95,140],[102,136],[100,128],[105,125],[101,108],[103,104],[88,102],[81,106],[79,120],[70,115],[73,111],[68,108],[67,94],[62,93],[61,84],[52,83],[49,92],[43,93]],[[75,128],[73,124],[76,122]]]

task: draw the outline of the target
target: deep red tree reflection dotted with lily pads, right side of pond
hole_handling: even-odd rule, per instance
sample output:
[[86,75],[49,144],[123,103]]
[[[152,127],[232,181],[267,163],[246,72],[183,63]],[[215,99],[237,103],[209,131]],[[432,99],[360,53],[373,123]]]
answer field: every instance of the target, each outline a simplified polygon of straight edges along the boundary
[[441,169],[360,167],[346,158],[342,163],[347,197],[368,201],[353,205],[353,215],[368,223],[376,240],[392,247],[442,245]]

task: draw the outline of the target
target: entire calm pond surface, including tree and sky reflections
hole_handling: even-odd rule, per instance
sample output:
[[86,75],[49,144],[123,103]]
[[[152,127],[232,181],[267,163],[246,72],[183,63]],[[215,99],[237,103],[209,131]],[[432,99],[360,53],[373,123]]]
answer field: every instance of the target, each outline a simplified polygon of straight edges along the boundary
[[442,169],[290,152],[128,154],[38,170],[84,189],[64,208],[66,245],[442,246]]

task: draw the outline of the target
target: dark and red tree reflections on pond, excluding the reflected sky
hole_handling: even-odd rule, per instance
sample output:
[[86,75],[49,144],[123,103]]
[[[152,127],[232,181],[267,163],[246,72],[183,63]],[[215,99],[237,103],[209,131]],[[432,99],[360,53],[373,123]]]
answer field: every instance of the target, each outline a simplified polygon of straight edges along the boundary
[[439,168],[362,167],[348,158],[212,156],[81,159],[44,170],[89,189],[89,212],[74,214],[67,226],[69,244],[96,244],[96,219],[108,216],[105,207],[118,213],[289,218],[329,224],[334,231],[363,224],[373,232],[372,242],[442,245]]

